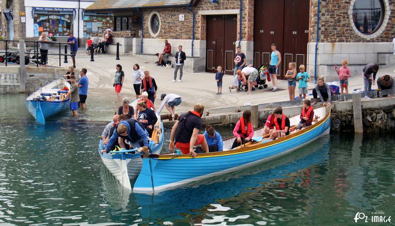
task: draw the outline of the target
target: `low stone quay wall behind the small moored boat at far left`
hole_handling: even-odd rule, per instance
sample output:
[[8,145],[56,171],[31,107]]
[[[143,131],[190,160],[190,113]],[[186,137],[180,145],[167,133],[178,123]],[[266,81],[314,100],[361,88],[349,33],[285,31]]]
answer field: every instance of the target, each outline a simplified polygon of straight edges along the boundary
[[0,93],[33,92],[55,79],[62,78],[67,72],[63,68],[26,68],[26,88],[20,90],[20,68],[0,67]]

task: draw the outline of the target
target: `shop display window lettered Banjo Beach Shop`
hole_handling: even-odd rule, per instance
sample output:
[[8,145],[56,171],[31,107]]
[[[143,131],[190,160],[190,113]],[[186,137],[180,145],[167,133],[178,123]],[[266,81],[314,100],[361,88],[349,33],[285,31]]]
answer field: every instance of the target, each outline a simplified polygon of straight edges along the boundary
[[60,12],[35,13],[34,36],[40,36],[42,32],[49,36],[65,37],[73,31],[73,15],[61,14]]

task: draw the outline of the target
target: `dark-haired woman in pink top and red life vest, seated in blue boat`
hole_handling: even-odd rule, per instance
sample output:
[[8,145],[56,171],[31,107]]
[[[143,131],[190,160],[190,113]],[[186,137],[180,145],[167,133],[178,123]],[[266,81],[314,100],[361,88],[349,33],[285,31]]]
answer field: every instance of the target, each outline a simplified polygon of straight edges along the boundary
[[250,110],[244,110],[243,116],[240,117],[240,120],[236,123],[236,126],[233,129],[233,135],[236,139],[234,140],[231,149],[247,143],[254,136]]

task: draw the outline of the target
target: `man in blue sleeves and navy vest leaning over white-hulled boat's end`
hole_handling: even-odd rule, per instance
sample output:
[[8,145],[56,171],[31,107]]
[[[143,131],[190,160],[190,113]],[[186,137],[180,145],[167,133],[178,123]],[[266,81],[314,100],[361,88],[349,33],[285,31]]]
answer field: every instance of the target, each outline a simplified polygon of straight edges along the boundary
[[144,126],[135,119],[124,120],[118,123],[104,150],[101,150],[101,153],[111,151],[111,147],[115,141],[118,141],[120,148],[126,149],[123,144],[124,140],[129,141],[131,148],[140,148],[141,145],[148,147],[149,135]]

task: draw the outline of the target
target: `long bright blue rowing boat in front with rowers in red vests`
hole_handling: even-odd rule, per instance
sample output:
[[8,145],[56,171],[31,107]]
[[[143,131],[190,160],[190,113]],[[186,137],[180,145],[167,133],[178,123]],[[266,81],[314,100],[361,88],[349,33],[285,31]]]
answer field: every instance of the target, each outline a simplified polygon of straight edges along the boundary
[[[159,193],[177,187],[188,187],[198,181],[241,170],[264,161],[291,153],[326,136],[330,132],[330,107],[314,110],[319,121],[312,126],[274,141],[258,141],[229,150],[234,138],[224,140],[224,151],[190,155],[150,155],[143,159],[143,169],[137,178],[133,192]],[[290,118],[297,125],[299,115]],[[261,135],[255,131],[255,137]],[[256,139],[257,140],[257,139]]]

